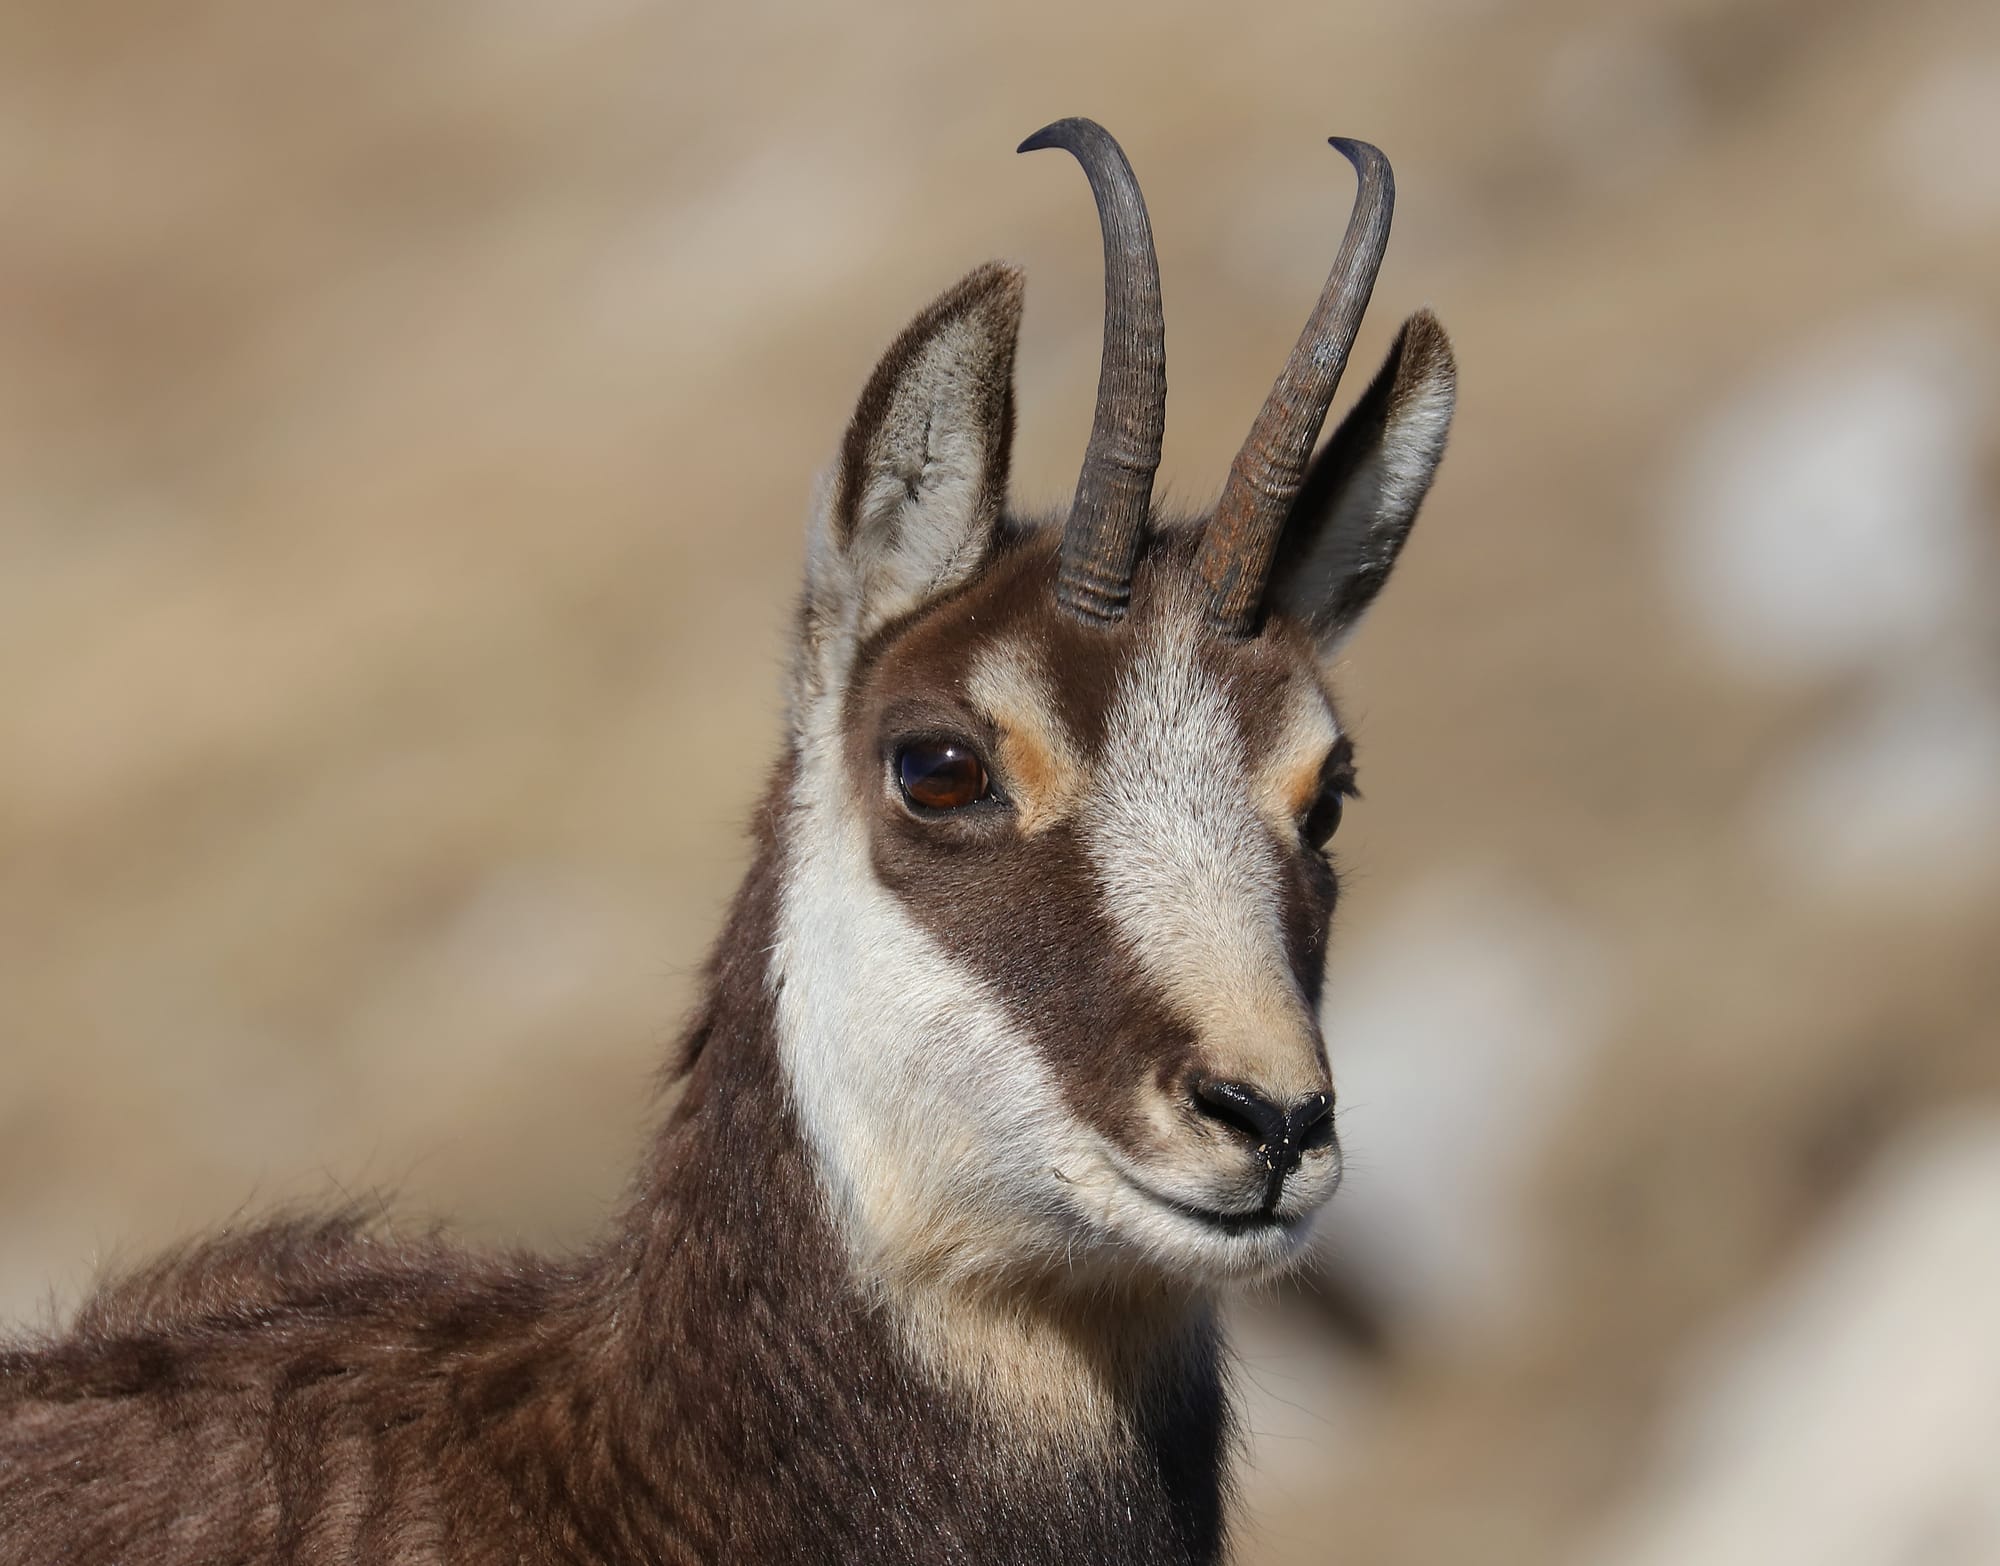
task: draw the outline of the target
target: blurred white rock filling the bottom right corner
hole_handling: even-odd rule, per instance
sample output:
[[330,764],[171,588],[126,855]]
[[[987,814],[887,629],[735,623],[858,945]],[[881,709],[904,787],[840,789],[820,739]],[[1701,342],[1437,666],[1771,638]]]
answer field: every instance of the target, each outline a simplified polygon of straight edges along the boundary
[[2000,1562],[2000,1114],[1922,1124],[1696,1364],[1594,1566]]

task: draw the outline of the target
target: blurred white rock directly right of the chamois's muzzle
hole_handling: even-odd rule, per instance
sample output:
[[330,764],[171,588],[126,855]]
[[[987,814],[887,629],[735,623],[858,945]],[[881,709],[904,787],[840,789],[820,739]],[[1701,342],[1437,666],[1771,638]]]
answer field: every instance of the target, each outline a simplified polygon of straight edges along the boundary
[[1326,1042],[1348,1174],[1322,1244],[1400,1330],[1476,1336],[1540,1274],[1524,1184],[1602,1034],[1602,954],[1480,878],[1418,888],[1336,952]]

